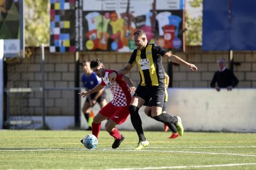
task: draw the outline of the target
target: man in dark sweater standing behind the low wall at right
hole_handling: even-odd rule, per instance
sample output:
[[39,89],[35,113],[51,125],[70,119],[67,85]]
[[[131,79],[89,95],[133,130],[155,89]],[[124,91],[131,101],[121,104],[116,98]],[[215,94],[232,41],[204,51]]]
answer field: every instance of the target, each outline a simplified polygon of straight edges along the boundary
[[236,87],[239,80],[234,73],[226,68],[226,60],[221,57],[217,59],[218,71],[213,75],[210,86],[215,88],[216,91],[220,91],[221,88],[226,88],[231,91],[233,87]]

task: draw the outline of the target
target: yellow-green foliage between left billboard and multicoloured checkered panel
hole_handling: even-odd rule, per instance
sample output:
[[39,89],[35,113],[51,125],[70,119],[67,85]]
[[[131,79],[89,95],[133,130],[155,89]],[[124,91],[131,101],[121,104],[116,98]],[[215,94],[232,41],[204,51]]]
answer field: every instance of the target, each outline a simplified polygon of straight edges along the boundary
[[25,0],[24,7],[26,46],[49,44],[48,0]]

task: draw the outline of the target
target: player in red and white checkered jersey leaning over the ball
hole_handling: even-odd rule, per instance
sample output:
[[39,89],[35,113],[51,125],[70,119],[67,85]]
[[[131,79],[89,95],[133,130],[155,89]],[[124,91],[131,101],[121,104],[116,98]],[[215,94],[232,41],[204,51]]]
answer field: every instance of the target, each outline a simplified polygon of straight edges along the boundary
[[96,85],[90,91],[80,92],[81,97],[86,97],[93,92],[100,91],[107,86],[113,94],[113,100],[105,107],[101,108],[99,113],[93,118],[92,134],[98,138],[101,129],[101,121],[108,119],[105,124],[105,129],[110,136],[114,137],[112,148],[117,148],[124,140],[124,136],[120,134],[116,125],[122,124],[129,116],[129,105],[132,100],[130,92],[134,93],[136,88],[127,76],[117,74],[115,81],[111,82],[108,75],[116,72],[114,70],[107,70],[100,59],[94,59],[90,63],[90,67],[101,78],[101,83]]

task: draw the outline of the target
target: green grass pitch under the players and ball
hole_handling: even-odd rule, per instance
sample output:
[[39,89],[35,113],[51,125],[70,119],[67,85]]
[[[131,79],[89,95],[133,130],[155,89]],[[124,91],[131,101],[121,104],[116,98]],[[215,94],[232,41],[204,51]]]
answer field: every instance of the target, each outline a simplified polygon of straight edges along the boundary
[[136,151],[135,131],[112,149],[101,131],[96,149],[80,143],[90,131],[0,131],[0,169],[256,169],[256,134],[145,132],[150,145]]

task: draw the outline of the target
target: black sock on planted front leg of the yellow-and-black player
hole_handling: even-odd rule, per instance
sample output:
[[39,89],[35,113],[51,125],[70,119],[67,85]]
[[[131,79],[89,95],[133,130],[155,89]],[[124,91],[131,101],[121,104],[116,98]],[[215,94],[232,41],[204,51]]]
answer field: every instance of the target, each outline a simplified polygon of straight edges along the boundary
[[139,140],[144,141],[146,137],[144,136],[144,132],[142,129],[142,119],[140,119],[139,108],[134,105],[130,105],[130,121],[132,122],[132,126],[134,126],[135,131],[138,134]]

